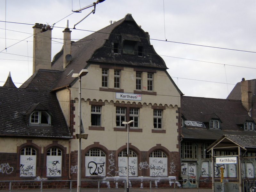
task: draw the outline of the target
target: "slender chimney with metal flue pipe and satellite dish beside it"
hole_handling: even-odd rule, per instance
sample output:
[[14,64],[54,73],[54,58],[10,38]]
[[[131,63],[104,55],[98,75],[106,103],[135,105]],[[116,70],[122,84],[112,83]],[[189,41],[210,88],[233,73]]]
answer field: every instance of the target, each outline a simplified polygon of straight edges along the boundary
[[67,27],[64,29],[63,32],[63,41],[64,41],[64,45],[63,45],[63,69],[65,69],[69,62],[72,60],[72,56],[71,56],[71,31],[68,28],[68,20],[67,20]]

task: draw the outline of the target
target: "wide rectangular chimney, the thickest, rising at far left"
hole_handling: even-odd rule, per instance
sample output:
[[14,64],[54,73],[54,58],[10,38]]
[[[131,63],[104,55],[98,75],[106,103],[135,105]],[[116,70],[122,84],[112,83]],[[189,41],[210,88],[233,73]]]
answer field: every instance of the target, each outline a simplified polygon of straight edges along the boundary
[[39,23],[36,23],[33,28],[33,73],[35,73],[38,69],[52,67],[52,28]]

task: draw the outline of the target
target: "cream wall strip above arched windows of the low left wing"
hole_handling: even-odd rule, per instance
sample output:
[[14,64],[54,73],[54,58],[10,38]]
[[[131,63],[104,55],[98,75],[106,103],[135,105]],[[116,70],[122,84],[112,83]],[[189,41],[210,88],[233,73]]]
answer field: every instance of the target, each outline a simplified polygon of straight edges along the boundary
[[[58,140],[58,139],[24,139],[24,138],[9,138],[9,137],[3,137],[0,140],[0,146],[5,146],[4,148],[1,148],[1,153],[17,153],[17,147],[26,143],[27,140],[32,140],[32,143],[38,145],[39,147],[42,147],[41,153],[44,153],[44,147],[52,144],[52,140]],[[15,145],[13,145],[15,143]],[[58,144],[62,145],[63,147],[67,148],[68,153],[68,140],[58,140]]]

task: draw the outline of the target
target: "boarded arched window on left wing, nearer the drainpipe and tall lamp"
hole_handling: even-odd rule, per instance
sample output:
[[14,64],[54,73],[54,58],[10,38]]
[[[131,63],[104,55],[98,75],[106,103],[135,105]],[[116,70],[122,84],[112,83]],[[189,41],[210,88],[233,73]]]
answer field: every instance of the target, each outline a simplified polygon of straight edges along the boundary
[[59,148],[50,148],[46,152],[46,176],[61,177],[62,151]]

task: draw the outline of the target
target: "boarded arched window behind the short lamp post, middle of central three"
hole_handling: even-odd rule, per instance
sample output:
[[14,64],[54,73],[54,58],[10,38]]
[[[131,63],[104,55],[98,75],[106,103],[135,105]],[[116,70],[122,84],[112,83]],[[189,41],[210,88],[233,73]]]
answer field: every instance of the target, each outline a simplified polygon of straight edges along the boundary
[[[137,154],[129,149],[129,176],[138,176],[138,157]],[[127,149],[118,154],[118,175],[127,176]]]

